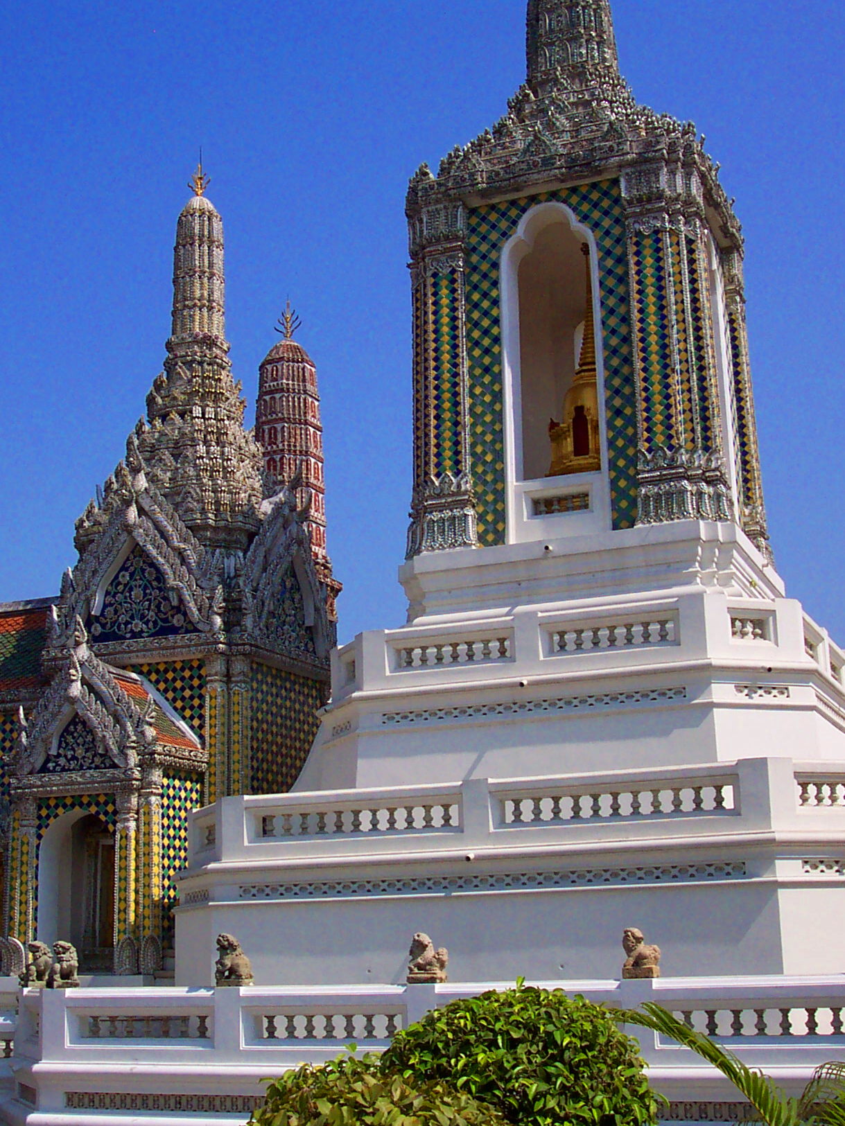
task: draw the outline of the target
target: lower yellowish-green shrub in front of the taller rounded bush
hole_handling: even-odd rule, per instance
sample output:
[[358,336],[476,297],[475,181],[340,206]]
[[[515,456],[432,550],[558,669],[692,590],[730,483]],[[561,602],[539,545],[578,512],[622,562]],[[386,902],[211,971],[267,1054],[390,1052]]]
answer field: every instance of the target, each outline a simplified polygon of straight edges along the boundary
[[470,1094],[437,1081],[402,1079],[379,1056],[306,1064],[267,1088],[254,1126],[506,1126]]

